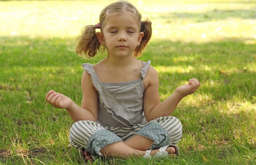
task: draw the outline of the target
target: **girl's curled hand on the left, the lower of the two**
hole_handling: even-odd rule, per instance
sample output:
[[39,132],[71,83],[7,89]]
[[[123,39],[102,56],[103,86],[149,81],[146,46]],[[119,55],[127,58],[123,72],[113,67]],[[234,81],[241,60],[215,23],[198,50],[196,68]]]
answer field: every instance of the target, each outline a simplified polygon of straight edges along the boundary
[[65,96],[64,94],[57,93],[54,90],[50,90],[46,94],[45,100],[55,108],[63,108],[63,109],[69,108],[69,106],[73,103],[71,98]]

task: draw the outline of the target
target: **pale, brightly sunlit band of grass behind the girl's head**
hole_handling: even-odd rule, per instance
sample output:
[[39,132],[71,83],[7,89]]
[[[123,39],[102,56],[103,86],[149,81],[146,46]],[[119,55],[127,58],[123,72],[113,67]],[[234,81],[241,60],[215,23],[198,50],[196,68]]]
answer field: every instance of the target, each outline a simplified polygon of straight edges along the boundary
[[[152,40],[208,42],[227,37],[256,39],[256,21],[253,19],[255,13],[249,12],[255,8],[255,4],[202,3],[195,5],[172,1],[170,4],[161,6],[161,10],[159,10],[160,2],[152,3],[144,0],[132,0],[131,2],[138,6],[143,19],[150,18],[152,21]],[[101,1],[98,4],[89,0],[64,1],[58,8],[52,8],[50,6],[56,6],[60,2],[51,1],[49,3],[51,5],[41,1],[11,2],[12,5],[9,5],[7,11],[1,16],[2,35],[74,37],[79,35],[85,25],[97,24],[98,13],[108,4],[107,1]],[[2,8],[4,8],[5,3],[2,2],[2,4]],[[73,7],[66,10],[65,8],[69,8],[69,5],[73,5]],[[26,10],[28,8],[29,10]],[[16,26],[12,26],[12,24]]]

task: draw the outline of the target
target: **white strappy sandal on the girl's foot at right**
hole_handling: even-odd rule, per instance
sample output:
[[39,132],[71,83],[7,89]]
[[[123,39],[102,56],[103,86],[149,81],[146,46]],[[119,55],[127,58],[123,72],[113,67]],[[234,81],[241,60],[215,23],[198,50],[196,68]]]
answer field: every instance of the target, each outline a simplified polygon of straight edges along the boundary
[[[153,157],[168,157],[170,156],[170,153],[166,150],[168,147],[174,147],[175,148],[175,154],[177,157],[179,156],[179,147],[178,145],[165,145],[163,147],[160,147],[159,152],[156,153]],[[146,150],[146,154],[143,156],[145,158],[150,158],[152,155],[150,155],[152,149]]]

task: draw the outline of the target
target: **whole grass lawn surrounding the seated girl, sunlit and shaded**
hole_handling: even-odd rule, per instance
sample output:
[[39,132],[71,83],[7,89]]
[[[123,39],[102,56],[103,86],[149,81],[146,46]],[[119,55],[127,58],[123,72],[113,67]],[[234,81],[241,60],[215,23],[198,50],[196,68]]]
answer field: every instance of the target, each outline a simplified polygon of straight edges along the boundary
[[[81,164],[72,120],[45,102],[54,89],[81,102],[82,59],[67,47],[113,1],[0,1],[0,164]],[[131,1],[152,21],[151,60],[161,100],[195,77],[199,90],[173,113],[183,123],[177,159],[92,164],[256,164],[256,1]]]

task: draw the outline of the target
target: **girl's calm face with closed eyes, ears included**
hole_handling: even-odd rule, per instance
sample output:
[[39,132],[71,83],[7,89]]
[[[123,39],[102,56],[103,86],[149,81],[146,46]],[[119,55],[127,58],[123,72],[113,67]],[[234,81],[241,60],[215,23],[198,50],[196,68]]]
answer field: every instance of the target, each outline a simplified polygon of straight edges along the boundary
[[97,34],[99,42],[106,45],[109,56],[133,55],[143,37],[138,18],[131,12],[115,12],[107,16],[102,32]]

